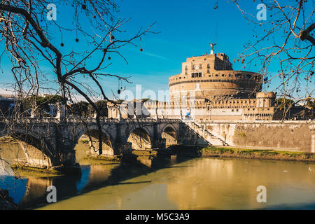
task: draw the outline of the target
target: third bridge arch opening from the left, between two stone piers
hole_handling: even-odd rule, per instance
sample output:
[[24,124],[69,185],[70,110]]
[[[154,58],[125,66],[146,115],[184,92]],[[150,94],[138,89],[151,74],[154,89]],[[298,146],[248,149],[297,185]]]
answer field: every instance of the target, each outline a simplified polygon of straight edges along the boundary
[[144,127],[135,127],[130,131],[127,142],[132,144],[136,150],[145,150],[152,148],[151,136]]

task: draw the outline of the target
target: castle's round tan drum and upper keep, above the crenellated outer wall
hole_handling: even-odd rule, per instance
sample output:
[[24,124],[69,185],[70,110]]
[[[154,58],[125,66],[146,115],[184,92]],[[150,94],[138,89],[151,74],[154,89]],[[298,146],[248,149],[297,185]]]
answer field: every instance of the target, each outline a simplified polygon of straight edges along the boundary
[[169,101],[195,99],[255,98],[260,92],[262,75],[234,71],[223,53],[189,57],[182,72],[169,78]]

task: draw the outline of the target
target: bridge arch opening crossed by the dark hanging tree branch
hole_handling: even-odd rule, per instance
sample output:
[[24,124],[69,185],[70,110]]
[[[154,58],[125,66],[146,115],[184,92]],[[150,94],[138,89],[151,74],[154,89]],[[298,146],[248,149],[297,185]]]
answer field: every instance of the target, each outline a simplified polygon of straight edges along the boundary
[[[99,151],[99,130],[89,129],[89,130],[80,130],[76,136],[76,144],[78,141],[87,141],[90,145],[90,152],[92,154],[98,154]],[[106,130],[102,130],[102,149],[104,155],[114,155],[114,147],[113,140],[111,135],[106,132]]]

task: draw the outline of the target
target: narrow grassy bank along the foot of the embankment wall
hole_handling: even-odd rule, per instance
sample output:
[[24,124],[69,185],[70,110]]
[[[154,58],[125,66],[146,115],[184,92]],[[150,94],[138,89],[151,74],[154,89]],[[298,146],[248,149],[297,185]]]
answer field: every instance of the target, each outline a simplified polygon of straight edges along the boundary
[[200,150],[201,157],[260,158],[315,162],[315,153],[259,150],[247,148],[207,147]]

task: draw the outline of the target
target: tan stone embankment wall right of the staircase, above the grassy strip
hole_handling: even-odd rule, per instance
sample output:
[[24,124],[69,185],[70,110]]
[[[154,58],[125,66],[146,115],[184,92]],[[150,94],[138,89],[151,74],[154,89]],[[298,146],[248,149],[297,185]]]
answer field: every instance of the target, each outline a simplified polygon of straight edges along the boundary
[[315,121],[202,121],[199,124],[230,146],[315,153]]

